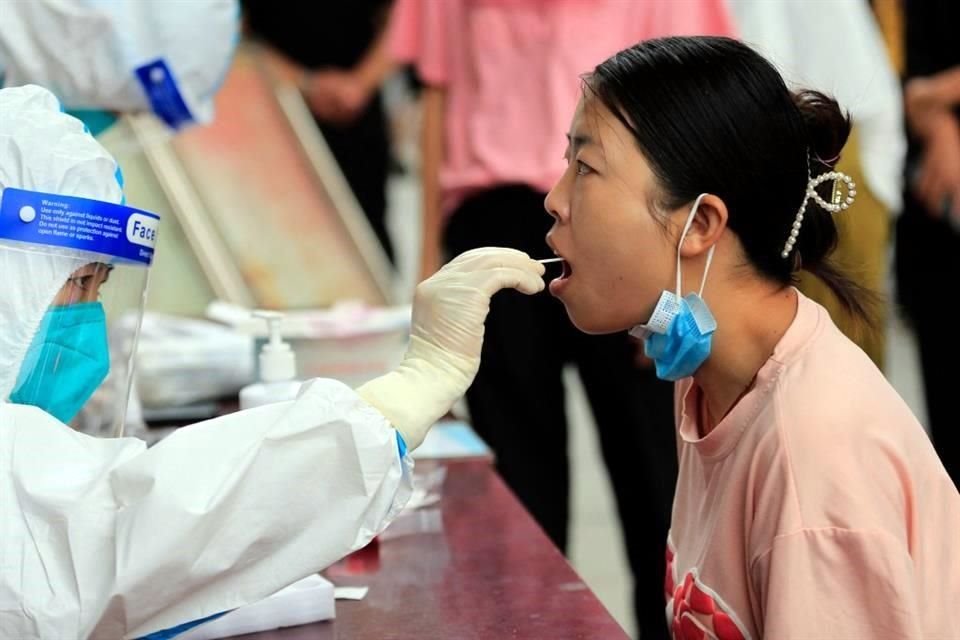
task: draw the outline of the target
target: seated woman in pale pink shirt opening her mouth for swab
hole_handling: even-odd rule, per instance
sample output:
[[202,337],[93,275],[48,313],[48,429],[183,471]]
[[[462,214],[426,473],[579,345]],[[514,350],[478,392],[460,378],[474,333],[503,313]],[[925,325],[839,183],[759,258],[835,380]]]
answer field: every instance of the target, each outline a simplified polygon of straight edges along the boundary
[[674,638],[960,638],[960,495],[792,286],[805,269],[867,317],[830,260],[856,206],[833,170],[849,131],[727,38],[650,40],[584,81],[546,199],[565,260],[550,291],[582,331],[632,328],[676,382]]

